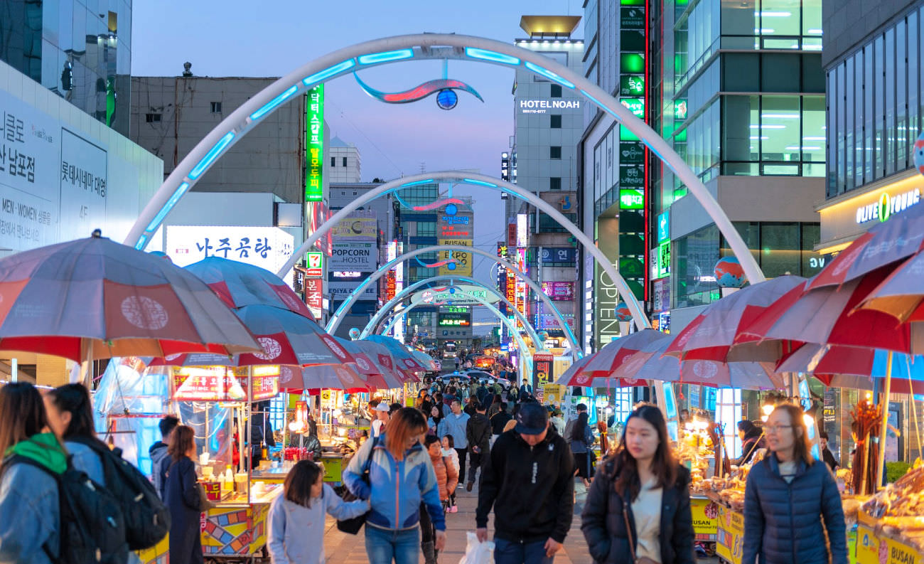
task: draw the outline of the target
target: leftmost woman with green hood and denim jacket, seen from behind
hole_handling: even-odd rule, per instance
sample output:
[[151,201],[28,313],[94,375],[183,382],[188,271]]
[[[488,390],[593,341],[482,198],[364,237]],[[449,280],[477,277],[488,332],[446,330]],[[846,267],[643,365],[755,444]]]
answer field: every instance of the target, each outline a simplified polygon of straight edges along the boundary
[[[60,554],[58,488],[48,472],[67,470],[67,453],[48,425],[35,386],[12,383],[0,388],[0,561],[44,564]],[[10,457],[29,459],[6,464]],[[41,464],[46,470],[33,466]]]

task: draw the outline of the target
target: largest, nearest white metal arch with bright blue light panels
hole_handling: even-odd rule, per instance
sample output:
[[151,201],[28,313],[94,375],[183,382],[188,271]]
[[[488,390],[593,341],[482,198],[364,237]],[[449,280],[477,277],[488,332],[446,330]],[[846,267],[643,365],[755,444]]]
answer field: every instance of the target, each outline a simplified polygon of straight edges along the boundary
[[[680,155],[675,153],[667,141],[664,141],[643,120],[633,116],[628,108],[620,104],[616,98],[582,75],[528,49],[483,37],[451,33],[398,35],[357,43],[322,55],[298,67],[285,77],[275,80],[225,117],[180,161],[170,176],[164,180],[164,184],[154,193],[151,201],[145,205],[135,224],[129,230],[125,243],[137,249],[144,249],[176,202],[196,184],[213,163],[258,125],[263,117],[272,114],[299,93],[361,68],[405,60],[428,59],[466,60],[501,67],[523,68],[543,79],[553,80],[564,88],[580,93],[591,104],[597,105],[602,111],[613,116],[617,122],[632,131],[665,166],[674,171],[677,178],[680,178],[687,186],[690,193],[705,208],[712,221],[728,240],[748,280],[754,284],[765,279],[757,261],[748,251],[744,239],[741,238],[731,220],[725,215],[722,207],[711,196],[696,173],[687,166]],[[509,188],[505,190],[512,191]],[[561,219],[558,218],[558,221]],[[570,222],[566,223],[570,225]],[[326,229],[323,232],[326,232]],[[572,234],[575,235],[574,232]],[[587,242],[589,238],[581,235],[582,237],[578,240],[591,251],[592,241],[589,244]],[[612,264],[605,259],[605,256],[598,256],[597,253],[594,253],[594,258],[598,260],[602,269],[623,294],[626,304],[633,313],[636,325],[639,328],[650,325],[638,300],[635,300],[633,294],[628,291],[625,281],[619,277]],[[286,271],[289,268],[291,264],[286,266]]]

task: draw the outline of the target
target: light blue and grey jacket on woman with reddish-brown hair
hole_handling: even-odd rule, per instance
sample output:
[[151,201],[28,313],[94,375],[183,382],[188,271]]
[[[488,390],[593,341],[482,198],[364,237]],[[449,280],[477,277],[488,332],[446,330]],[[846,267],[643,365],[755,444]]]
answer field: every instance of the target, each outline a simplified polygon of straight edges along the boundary
[[[349,491],[360,499],[370,500],[366,523],[392,531],[413,529],[420,521],[420,502],[423,502],[436,530],[445,531],[443,504],[430,454],[418,443],[405,451],[404,459],[395,460],[385,448],[385,435],[387,432],[378,441],[363,443],[343,473]],[[370,484],[366,484],[362,470],[369,457],[372,457]]]

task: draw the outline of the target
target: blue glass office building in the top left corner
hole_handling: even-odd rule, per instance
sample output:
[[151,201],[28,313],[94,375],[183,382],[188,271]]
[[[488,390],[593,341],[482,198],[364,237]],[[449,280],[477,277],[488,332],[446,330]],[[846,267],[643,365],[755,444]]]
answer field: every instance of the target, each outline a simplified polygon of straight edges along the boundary
[[0,60],[128,136],[131,0],[4,0]]

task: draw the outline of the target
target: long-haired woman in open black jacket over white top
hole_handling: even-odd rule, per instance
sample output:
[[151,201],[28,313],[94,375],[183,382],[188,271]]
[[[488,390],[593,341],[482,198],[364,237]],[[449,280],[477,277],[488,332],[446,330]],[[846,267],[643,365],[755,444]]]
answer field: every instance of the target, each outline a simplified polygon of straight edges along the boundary
[[594,561],[694,564],[689,477],[671,452],[661,410],[646,404],[632,411],[618,448],[602,461],[590,485],[581,514]]

